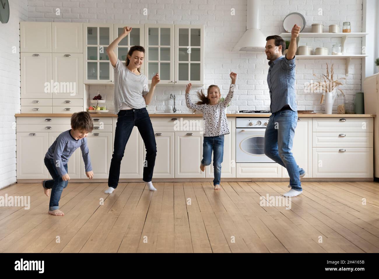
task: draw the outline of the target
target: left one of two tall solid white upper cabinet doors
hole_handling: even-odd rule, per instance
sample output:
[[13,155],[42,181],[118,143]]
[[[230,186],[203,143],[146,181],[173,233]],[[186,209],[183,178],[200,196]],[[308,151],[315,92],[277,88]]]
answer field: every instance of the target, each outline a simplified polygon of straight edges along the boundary
[[21,53],[21,98],[52,98],[52,54]]

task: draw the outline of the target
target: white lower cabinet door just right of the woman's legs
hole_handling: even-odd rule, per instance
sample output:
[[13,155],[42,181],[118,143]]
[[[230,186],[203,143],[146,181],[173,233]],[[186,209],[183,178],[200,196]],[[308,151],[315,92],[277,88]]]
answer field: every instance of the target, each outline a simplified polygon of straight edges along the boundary
[[[154,132],[157,143],[153,177],[174,178],[174,132]],[[146,147],[143,145],[143,158],[146,157]]]

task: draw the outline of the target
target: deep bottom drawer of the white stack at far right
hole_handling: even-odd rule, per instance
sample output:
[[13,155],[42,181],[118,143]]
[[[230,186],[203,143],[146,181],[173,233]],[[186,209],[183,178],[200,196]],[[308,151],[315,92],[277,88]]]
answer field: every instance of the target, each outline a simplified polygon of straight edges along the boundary
[[373,177],[373,148],[313,148],[312,158],[313,177]]

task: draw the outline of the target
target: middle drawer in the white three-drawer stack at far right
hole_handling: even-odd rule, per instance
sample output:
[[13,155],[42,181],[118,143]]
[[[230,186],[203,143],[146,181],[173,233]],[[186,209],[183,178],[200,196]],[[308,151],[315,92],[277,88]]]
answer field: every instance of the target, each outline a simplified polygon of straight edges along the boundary
[[313,147],[373,147],[373,133],[313,133]]

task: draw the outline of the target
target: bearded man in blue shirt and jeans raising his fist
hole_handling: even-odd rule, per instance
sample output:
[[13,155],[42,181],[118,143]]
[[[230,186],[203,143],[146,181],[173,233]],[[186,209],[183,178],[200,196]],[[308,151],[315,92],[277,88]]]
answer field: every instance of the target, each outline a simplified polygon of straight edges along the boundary
[[291,42],[288,52],[283,56],[285,41],[280,36],[266,38],[266,55],[270,60],[267,84],[271,98],[271,116],[265,132],[265,154],[287,169],[291,190],[285,197],[296,197],[302,193],[300,178],[305,170],[299,168],[291,152],[293,136],[298,123],[295,96],[295,53],[296,38],[300,27],[294,25],[291,30]]

